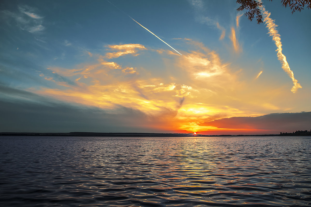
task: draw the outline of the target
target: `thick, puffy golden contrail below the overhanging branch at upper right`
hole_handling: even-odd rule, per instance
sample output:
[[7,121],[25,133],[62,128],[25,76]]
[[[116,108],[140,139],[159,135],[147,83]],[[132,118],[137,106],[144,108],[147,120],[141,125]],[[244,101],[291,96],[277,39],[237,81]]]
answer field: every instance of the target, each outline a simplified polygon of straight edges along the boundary
[[298,81],[294,77],[293,71],[290,70],[290,66],[288,65],[288,62],[286,61],[285,55],[282,53],[282,42],[281,42],[281,35],[278,34],[278,31],[276,30],[277,25],[274,23],[274,20],[270,18],[270,12],[268,12],[265,7],[261,7],[261,10],[263,11],[263,21],[266,24],[266,27],[268,28],[270,36],[272,36],[273,41],[275,42],[275,45],[277,47],[277,57],[280,60],[282,64],[283,70],[290,76],[292,79],[294,86],[291,89],[291,92],[296,93],[297,89],[302,88],[301,85],[298,83]]

